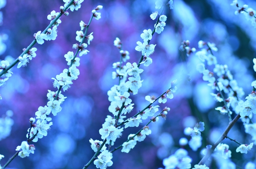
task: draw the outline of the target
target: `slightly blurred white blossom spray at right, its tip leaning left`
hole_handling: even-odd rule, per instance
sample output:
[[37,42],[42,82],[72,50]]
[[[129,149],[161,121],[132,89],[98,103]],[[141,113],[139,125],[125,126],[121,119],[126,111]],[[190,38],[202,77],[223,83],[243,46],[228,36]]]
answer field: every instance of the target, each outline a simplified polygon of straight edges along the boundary
[[[216,57],[212,54],[212,51],[218,51],[215,44],[200,40],[198,47],[201,48],[201,50],[197,51],[195,55],[200,59],[201,63],[196,66],[196,70],[203,73],[203,81],[208,81],[208,85],[218,91],[217,94],[211,93],[211,95],[215,97],[215,100],[224,102],[225,104],[223,107],[215,108],[215,110],[219,110],[221,114],[232,114],[230,106],[233,110],[236,108],[238,100],[245,94],[243,88],[238,87],[237,81],[233,79],[233,75],[230,73],[227,65],[218,64]],[[206,61],[208,66],[215,66],[213,72],[206,68],[203,63]],[[214,76],[215,74],[218,77],[217,80]],[[228,98],[225,100],[220,97],[222,92],[228,95]]]

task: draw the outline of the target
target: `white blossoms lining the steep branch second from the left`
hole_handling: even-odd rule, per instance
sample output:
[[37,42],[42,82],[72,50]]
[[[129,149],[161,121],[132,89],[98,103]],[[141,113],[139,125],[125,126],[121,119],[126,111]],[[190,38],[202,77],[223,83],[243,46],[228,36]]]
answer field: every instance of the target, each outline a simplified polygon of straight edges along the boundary
[[[64,2],[68,3],[65,0],[64,0]],[[74,5],[75,6],[73,8],[71,6],[71,10],[79,9],[81,2],[83,2],[83,0],[75,1],[75,4],[73,4],[73,6]],[[63,10],[63,7],[60,7],[60,8]],[[100,8],[102,8],[102,6],[100,6]],[[49,20],[53,20],[54,18],[56,18],[56,15],[58,15],[58,14],[56,14],[55,11],[51,12],[51,15],[48,15]],[[94,17],[94,15],[92,15],[92,17]],[[60,23],[60,20],[58,19],[55,23]],[[81,25],[81,23],[84,23],[84,22],[81,21],[80,25]],[[54,28],[55,27],[56,26],[54,26]],[[81,27],[81,29],[83,29],[83,28]],[[47,37],[48,35],[40,34],[40,36]],[[48,40],[50,37],[51,36],[49,35]],[[88,44],[90,44],[90,41],[93,40],[93,36],[91,33],[88,36],[83,35],[82,38],[83,39],[80,40],[76,37],[76,40],[78,40],[81,43],[73,44],[73,46],[72,46],[72,48],[80,51],[79,56],[86,55],[89,52],[86,49],[88,45],[83,43],[83,40],[85,38],[90,39],[88,41]],[[51,38],[51,39],[54,40],[55,38]],[[37,41],[38,41],[38,39],[37,39]],[[76,53],[78,53],[78,52],[76,52]],[[63,91],[68,90],[68,88],[70,88],[70,84],[72,84],[72,81],[76,80],[78,78],[79,70],[76,67],[80,65],[80,63],[79,63],[80,59],[76,58],[76,55],[74,55],[74,53],[72,51],[68,51],[68,53],[65,54],[64,57],[65,57],[66,61],[68,62],[67,65],[69,66],[69,68],[64,69],[62,73],[60,73],[59,75],[56,75],[56,78],[52,78],[54,80],[53,87],[57,88],[58,91],[52,92],[52,91],[48,90],[47,98],[49,101],[48,101],[47,105],[45,105],[44,107],[40,106],[38,108],[38,111],[35,113],[36,118],[30,118],[29,121],[31,123],[31,127],[28,129],[28,133],[26,135],[26,137],[28,139],[27,142],[29,142],[29,141],[37,142],[38,139],[41,139],[43,136],[47,136],[47,132],[50,129],[50,126],[53,125],[52,118],[48,117],[49,114],[52,113],[53,116],[56,116],[57,113],[59,113],[62,109],[60,105],[67,98],[61,94],[60,90],[61,89],[63,89]],[[34,123],[35,121],[36,121],[36,123]],[[29,156],[30,153],[34,153],[34,149],[35,149],[34,145],[31,148],[31,145],[28,145],[27,142],[23,141],[21,146],[18,146],[16,149],[16,151],[20,151],[19,156],[22,158]],[[28,148],[28,146],[29,146],[29,148]]]

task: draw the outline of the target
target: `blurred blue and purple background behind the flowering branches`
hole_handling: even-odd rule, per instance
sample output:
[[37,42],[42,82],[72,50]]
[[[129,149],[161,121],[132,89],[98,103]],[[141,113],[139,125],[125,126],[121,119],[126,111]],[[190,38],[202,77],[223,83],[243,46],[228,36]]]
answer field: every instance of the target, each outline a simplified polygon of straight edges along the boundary
[[[228,125],[226,115],[221,115],[215,107],[222,106],[210,95],[211,87],[202,80],[202,74],[196,71],[199,59],[195,55],[186,56],[179,47],[183,40],[190,40],[191,47],[197,48],[198,41],[215,43],[219,64],[227,64],[238,86],[242,87],[245,97],[252,91],[254,81],[253,62],[256,58],[256,33],[251,22],[244,15],[234,15],[236,7],[230,6],[232,0],[173,0],[173,10],[166,8],[166,26],[161,34],[155,33],[151,44],[157,44],[151,55],[153,63],[141,66],[144,72],[141,77],[143,86],[139,93],[132,96],[134,110],[127,114],[132,117],[147,106],[144,99],[147,95],[159,96],[165,92],[171,81],[182,80],[190,74],[192,81],[183,81],[178,86],[174,98],[166,104],[159,104],[160,110],[170,107],[166,120],[159,119],[150,124],[152,134],[128,154],[120,150],[113,153],[112,169],[157,169],[164,167],[162,159],[173,154],[180,146],[179,139],[185,136],[185,127],[194,127],[196,122],[204,121],[205,131],[202,133],[203,144],[198,151],[192,151],[185,146],[188,155],[192,157],[192,166],[197,164],[202,156],[200,150],[207,144],[215,142]],[[0,59],[6,57],[16,59],[32,40],[34,33],[43,31],[49,25],[47,15],[51,11],[59,11],[64,5],[62,0],[1,0],[2,18],[0,26]],[[9,169],[82,169],[93,156],[90,148],[90,138],[101,140],[98,130],[102,128],[107,115],[109,101],[107,91],[118,84],[112,79],[113,62],[120,60],[119,50],[113,46],[113,41],[119,37],[123,49],[130,52],[128,62],[138,62],[141,53],[135,51],[137,41],[143,41],[140,34],[144,29],[154,29],[155,21],[150,15],[155,9],[155,0],[85,0],[78,11],[69,11],[68,16],[62,16],[58,26],[56,40],[35,44],[37,56],[26,67],[11,69],[12,77],[0,88],[0,116],[8,110],[13,112],[13,125],[10,136],[1,140],[0,154],[4,165],[13,154],[15,148],[26,140],[29,118],[35,117],[39,106],[47,103],[47,90],[53,88],[52,77],[68,68],[64,55],[74,51],[72,44],[76,31],[80,30],[79,22],[88,23],[91,10],[103,5],[102,18],[93,20],[88,34],[93,32],[94,40],[88,46],[90,51],[80,59],[79,78],[73,81],[72,87],[66,92],[62,111],[53,118],[48,135],[33,143],[35,153],[27,158],[16,157]],[[248,4],[256,8],[253,0],[239,1],[240,5]],[[160,11],[158,11],[160,12]],[[212,68],[211,68],[212,69]],[[10,112],[9,112],[10,113]],[[232,115],[232,118],[235,114]],[[256,119],[252,119],[255,121]],[[143,124],[146,124],[144,121]],[[130,133],[136,133],[139,128],[128,128],[123,136],[115,142],[117,147],[127,140]],[[230,136],[241,143],[251,143],[251,136],[244,132],[241,121],[230,131]],[[244,167],[248,161],[255,161],[255,148],[248,154],[236,153],[238,145],[230,140],[224,140],[232,151],[232,161],[237,166]],[[91,165],[94,169],[95,165]],[[216,168],[215,162],[212,168]]]

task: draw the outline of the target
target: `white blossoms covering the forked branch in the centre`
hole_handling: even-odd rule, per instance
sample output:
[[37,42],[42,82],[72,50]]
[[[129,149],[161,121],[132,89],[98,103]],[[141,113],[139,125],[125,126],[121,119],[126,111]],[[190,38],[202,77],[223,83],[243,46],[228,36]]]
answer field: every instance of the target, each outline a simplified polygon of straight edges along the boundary
[[[158,1],[157,3],[159,2],[160,1]],[[156,8],[161,8],[162,5],[161,7],[159,7],[159,4],[157,3]],[[154,14],[155,16],[153,18],[151,15],[151,18],[153,20],[158,16],[158,12],[155,12]],[[102,125],[102,129],[99,130],[99,133],[102,136],[101,138],[103,140],[106,140],[106,143],[109,144],[110,146],[113,146],[116,139],[122,135],[124,128],[138,127],[139,124],[142,123],[142,120],[147,119],[149,116],[154,116],[154,114],[158,111],[159,106],[150,105],[149,107],[145,108],[145,110],[136,114],[132,118],[124,120],[124,118],[126,118],[126,116],[124,115],[130,113],[134,106],[134,103],[132,103],[132,99],[129,98],[130,93],[136,95],[139,91],[139,88],[142,87],[143,80],[141,80],[140,73],[143,73],[143,69],[140,69],[139,66],[142,63],[144,63],[144,66],[149,66],[152,63],[152,59],[149,56],[154,52],[154,47],[156,45],[149,44],[149,42],[152,39],[152,35],[154,34],[154,32],[157,32],[159,34],[163,31],[163,27],[166,25],[166,19],[167,17],[165,15],[159,15],[157,24],[154,26],[153,31],[151,29],[143,30],[143,33],[140,35],[140,37],[143,39],[143,43],[138,41],[138,46],[136,46],[135,48],[136,51],[142,52],[142,59],[138,64],[136,62],[127,62],[125,65],[122,65],[123,62],[126,62],[128,59],[130,59],[129,52],[122,50],[122,42],[118,37],[116,38],[116,40],[114,40],[114,45],[118,49],[120,49],[121,55],[120,62],[113,63],[113,68],[116,69],[116,71],[112,73],[113,79],[119,78],[119,84],[114,85],[107,93],[109,96],[108,99],[111,102],[109,106],[109,112],[111,112],[114,117],[108,115],[105,119],[104,124]],[[177,87],[174,81],[172,83],[172,86],[166,91],[166,95],[162,95],[160,98],[158,98],[159,103],[166,103],[166,98],[173,99],[173,93],[176,92],[176,90]],[[147,99],[148,96],[146,96],[146,100]],[[149,101],[152,104],[155,100],[156,98],[154,98],[154,100],[151,99],[151,101]],[[165,118],[167,111],[169,111],[169,108],[165,108],[165,113],[161,113],[158,115]],[[151,118],[151,121],[157,120],[158,116]],[[124,128],[120,128],[120,124],[125,124]],[[146,135],[149,134],[151,134],[151,130],[149,129],[148,126],[144,126],[143,129],[140,130],[137,134],[130,134],[128,136],[128,140],[122,144],[121,151],[128,153],[132,148],[135,147],[136,141],[143,141],[146,138]],[[104,151],[101,154],[103,153]],[[98,159],[101,157],[101,154],[98,155]],[[112,155],[110,156],[112,157]],[[111,159],[110,156],[109,159]],[[95,161],[94,164],[96,163]],[[95,164],[96,167],[101,169],[103,169],[105,166],[110,166],[107,162],[103,163],[103,167],[97,164]]]

